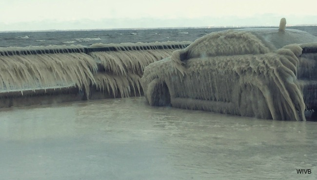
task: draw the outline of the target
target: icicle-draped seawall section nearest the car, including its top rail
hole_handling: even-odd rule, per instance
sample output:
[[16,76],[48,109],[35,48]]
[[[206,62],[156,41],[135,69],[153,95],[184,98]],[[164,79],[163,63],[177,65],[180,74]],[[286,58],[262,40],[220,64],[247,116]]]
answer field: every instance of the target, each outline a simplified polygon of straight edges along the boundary
[[113,51],[92,52],[90,55],[104,68],[96,74],[97,89],[116,97],[142,94],[140,80],[144,68],[150,63],[170,56],[173,51],[185,48],[189,42],[93,44],[92,47],[115,47]]

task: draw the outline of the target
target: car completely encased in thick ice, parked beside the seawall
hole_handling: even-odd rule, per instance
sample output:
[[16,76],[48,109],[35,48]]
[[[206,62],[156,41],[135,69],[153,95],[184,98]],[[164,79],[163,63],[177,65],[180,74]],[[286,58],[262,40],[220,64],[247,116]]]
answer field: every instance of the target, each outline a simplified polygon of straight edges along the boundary
[[317,37],[299,30],[214,32],[147,66],[152,106],[305,121],[317,108]]

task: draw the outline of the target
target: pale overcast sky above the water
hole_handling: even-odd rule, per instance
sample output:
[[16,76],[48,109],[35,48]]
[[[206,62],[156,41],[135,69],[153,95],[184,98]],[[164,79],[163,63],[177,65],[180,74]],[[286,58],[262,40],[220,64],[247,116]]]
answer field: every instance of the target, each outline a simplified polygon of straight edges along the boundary
[[0,0],[0,31],[317,24],[317,0]]

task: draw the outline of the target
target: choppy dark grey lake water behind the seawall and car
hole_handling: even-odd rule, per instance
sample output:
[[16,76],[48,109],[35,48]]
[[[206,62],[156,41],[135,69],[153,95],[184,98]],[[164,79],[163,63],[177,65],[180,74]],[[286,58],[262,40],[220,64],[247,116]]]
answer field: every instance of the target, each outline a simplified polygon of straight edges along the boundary
[[[317,36],[317,26],[293,26],[288,29],[306,31]],[[91,30],[53,32],[0,32],[0,47],[84,45],[94,43],[194,41],[215,31],[237,28],[189,28],[189,29],[140,29],[140,30]]]

